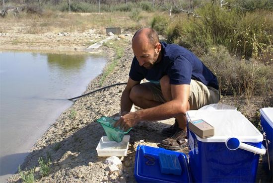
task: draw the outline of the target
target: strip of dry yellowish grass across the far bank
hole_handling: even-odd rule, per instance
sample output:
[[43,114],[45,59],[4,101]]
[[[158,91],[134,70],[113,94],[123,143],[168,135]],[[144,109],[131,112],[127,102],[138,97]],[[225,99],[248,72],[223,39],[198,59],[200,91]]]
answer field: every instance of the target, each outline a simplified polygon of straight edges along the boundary
[[0,18],[1,32],[41,34],[46,32],[84,32],[98,29],[105,33],[105,27],[119,26],[125,30],[135,31],[149,26],[154,13],[142,13],[138,21],[130,18],[131,12],[103,13],[67,13],[46,11],[42,16],[21,12],[18,16],[8,14]]

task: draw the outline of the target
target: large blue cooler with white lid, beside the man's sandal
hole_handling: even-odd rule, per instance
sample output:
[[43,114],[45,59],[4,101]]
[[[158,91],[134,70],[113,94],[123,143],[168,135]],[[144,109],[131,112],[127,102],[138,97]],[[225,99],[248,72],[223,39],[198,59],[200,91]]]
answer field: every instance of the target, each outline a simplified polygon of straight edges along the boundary
[[205,120],[214,135],[201,138],[188,128],[189,168],[197,183],[255,182],[263,135],[237,110],[191,110],[188,122]]

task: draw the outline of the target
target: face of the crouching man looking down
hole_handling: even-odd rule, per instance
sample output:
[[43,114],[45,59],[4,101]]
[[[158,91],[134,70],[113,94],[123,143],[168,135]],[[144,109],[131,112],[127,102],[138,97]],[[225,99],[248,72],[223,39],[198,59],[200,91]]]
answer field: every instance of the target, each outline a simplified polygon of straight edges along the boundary
[[143,66],[146,69],[151,69],[153,67],[153,65],[158,59],[161,49],[161,45],[160,49],[158,49],[158,44],[156,46],[151,45],[133,46],[134,54],[140,66]]

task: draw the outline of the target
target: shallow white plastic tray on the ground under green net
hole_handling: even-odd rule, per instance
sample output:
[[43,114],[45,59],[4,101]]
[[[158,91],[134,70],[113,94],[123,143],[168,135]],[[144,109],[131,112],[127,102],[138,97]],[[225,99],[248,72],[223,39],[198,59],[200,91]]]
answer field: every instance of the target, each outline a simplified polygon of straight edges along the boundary
[[98,156],[126,156],[130,135],[125,135],[121,142],[110,141],[107,136],[102,136],[96,148]]

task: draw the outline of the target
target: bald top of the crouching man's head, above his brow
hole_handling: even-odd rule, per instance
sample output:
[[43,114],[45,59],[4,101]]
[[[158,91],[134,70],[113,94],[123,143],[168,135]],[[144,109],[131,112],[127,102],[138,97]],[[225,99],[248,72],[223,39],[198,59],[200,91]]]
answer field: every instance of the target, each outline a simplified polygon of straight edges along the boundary
[[151,28],[142,28],[136,31],[132,39],[132,44],[148,44],[154,46],[159,43],[158,34]]

